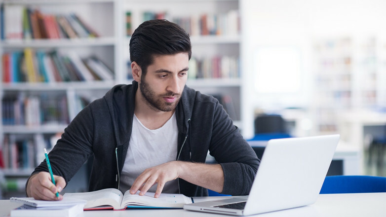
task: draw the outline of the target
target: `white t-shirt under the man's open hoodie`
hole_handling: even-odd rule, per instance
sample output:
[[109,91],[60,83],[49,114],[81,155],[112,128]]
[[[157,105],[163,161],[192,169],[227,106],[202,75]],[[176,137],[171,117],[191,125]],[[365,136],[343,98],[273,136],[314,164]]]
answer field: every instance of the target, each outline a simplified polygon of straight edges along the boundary
[[[150,130],[134,115],[129,148],[120,175],[119,190],[130,189],[135,179],[150,167],[176,160],[178,128],[176,114],[160,128]],[[149,192],[155,192],[157,184]],[[177,180],[168,181],[162,193],[178,193]]]

